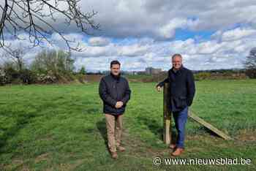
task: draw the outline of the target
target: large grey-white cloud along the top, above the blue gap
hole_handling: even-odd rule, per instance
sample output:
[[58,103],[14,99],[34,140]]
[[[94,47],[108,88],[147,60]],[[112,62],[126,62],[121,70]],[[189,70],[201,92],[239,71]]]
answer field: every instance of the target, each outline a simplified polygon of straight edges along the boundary
[[[97,4],[97,5],[95,5]],[[95,9],[95,20],[107,37],[173,38],[176,28],[192,31],[223,30],[236,24],[255,24],[256,1],[83,1],[83,9]],[[118,16],[118,17],[116,17]]]

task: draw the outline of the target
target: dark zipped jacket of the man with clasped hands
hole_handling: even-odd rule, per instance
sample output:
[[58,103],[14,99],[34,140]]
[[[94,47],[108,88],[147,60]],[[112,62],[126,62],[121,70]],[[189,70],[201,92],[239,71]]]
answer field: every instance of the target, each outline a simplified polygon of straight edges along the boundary
[[[99,83],[99,96],[103,101],[103,113],[121,115],[125,111],[127,102],[130,99],[131,91],[127,79],[110,74],[102,77]],[[121,101],[124,105],[116,108],[116,102]]]

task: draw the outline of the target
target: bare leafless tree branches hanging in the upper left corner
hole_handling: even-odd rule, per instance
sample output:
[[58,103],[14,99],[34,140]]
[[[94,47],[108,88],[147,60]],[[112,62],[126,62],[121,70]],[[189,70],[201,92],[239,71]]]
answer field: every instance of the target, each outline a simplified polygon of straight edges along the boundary
[[81,50],[80,45],[71,42],[64,32],[53,23],[56,16],[64,18],[66,26],[75,24],[84,34],[98,29],[99,24],[94,23],[94,15],[97,12],[82,12],[79,6],[80,0],[1,0],[0,2],[0,47],[13,55],[10,45],[7,45],[6,37],[20,39],[18,33],[25,32],[29,35],[29,41],[33,46],[42,45],[46,41],[50,44],[50,35],[57,33],[66,42],[69,50]]

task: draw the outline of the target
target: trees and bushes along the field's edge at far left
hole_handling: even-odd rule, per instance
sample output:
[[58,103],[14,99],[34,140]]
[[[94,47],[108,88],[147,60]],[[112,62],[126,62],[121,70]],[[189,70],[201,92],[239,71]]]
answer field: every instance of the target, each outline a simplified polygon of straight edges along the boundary
[[75,71],[75,58],[63,50],[42,50],[30,64],[23,59],[23,50],[15,51],[15,56],[0,64],[0,84],[32,83],[84,83],[84,66]]

